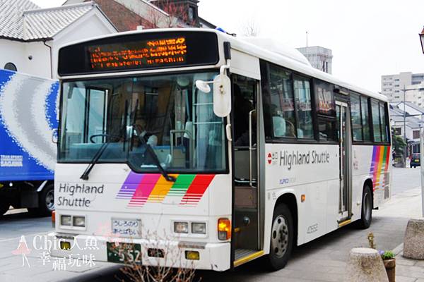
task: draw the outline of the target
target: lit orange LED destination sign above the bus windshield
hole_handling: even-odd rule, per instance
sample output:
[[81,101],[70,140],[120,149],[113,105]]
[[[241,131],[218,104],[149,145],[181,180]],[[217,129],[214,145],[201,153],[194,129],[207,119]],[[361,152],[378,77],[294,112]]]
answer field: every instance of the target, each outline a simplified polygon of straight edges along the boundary
[[88,47],[92,70],[166,66],[187,61],[185,37]]

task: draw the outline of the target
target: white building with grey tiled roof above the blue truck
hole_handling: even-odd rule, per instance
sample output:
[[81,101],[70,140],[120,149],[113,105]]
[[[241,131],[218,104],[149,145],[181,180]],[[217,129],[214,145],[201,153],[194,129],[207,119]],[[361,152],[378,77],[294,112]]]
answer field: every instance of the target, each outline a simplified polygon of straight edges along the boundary
[[93,2],[41,9],[29,0],[0,1],[0,68],[57,78],[59,47],[113,32]]

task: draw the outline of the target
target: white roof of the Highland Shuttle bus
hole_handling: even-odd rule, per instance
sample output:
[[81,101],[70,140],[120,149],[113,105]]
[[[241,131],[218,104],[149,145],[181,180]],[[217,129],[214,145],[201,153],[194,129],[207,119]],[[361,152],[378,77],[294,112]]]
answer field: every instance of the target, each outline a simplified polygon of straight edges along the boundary
[[343,80],[339,80],[338,78],[334,77],[334,75],[330,75],[329,73],[324,73],[323,71],[319,71],[317,68],[313,68],[310,65],[310,63],[307,61],[305,56],[303,56],[300,53],[300,51],[298,51],[297,49],[293,47],[287,47],[273,39],[237,38],[232,35],[228,35],[225,32],[221,32],[219,30],[212,30],[212,29],[161,28],[161,29],[134,30],[129,32],[112,33],[110,35],[102,35],[100,37],[93,37],[90,39],[79,40],[78,42],[71,42],[62,47],[66,47],[69,45],[78,44],[82,42],[90,42],[91,40],[95,40],[95,39],[116,37],[119,35],[131,35],[131,34],[137,34],[137,33],[165,32],[165,31],[167,32],[170,32],[170,31],[213,32],[213,33],[216,33],[216,35],[218,36],[219,42],[224,42],[224,41],[230,42],[232,49],[236,49],[246,54],[256,56],[259,59],[269,61],[270,63],[275,63],[285,68],[290,68],[293,71],[304,73],[305,75],[309,75],[313,78],[318,78],[320,80],[333,83],[334,85],[346,88],[353,92],[365,94],[369,97],[373,97],[375,99],[379,99],[379,100],[387,102],[387,97],[383,94],[375,93],[370,90],[365,90],[362,87],[358,87],[348,82],[345,82]]

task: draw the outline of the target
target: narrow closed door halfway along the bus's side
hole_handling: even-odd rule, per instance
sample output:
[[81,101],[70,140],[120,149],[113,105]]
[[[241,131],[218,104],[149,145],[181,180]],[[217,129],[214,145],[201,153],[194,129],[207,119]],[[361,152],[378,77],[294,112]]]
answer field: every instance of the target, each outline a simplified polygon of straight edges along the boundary
[[340,189],[338,201],[339,224],[351,219],[351,175],[349,169],[349,159],[351,154],[351,129],[349,119],[348,104],[336,101],[337,115],[337,135],[339,142],[339,176]]

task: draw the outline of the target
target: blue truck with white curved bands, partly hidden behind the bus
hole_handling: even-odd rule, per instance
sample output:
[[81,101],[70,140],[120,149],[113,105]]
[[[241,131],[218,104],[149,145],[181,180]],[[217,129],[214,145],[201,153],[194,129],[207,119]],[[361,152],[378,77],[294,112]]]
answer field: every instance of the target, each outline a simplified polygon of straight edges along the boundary
[[58,90],[56,80],[0,69],[0,216],[7,205],[37,207],[30,197],[52,185]]

